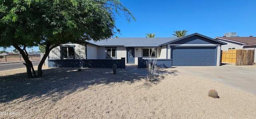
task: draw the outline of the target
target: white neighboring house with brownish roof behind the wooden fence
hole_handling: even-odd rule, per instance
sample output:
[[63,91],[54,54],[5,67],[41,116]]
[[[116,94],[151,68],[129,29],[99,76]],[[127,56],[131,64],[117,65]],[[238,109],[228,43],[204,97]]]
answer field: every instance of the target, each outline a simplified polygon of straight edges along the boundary
[[[214,39],[227,43],[227,45],[222,46],[222,51],[228,51],[229,49],[245,49],[245,50],[255,50],[256,49],[256,37],[239,37],[232,36],[227,37],[215,37]],[[254,62],[256,62],[256,53],[254,53]]]

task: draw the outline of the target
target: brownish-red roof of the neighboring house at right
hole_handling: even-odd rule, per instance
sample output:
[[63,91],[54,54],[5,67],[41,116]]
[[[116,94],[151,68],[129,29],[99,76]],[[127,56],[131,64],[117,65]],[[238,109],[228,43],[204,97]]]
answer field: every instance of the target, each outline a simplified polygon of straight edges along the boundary
[[241,45],[255,45],[256,37],[215,37],[221,41],[231,41],[235,43],[240,43]]

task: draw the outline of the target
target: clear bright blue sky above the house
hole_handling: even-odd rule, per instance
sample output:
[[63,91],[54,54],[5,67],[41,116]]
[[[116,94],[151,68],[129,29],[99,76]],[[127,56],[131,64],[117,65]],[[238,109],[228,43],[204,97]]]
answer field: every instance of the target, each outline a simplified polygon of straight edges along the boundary
[[[118,37],[174,37],[176,30],[221,37],[237,32],[240,37],[256,37],[256,0],[120,0],[136,21],[128,23],[121,14]],[[39,51],[38,48],[33,48]],[[0,50],[2,50],[0,48]],[[7,49],[10,52],[10,49]],[[28,49],[28,51],[31,49]]]

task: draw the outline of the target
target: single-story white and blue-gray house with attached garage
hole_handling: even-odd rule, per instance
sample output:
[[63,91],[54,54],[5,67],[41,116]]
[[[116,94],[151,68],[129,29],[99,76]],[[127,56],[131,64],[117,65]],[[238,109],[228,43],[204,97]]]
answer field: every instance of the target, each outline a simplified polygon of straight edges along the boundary
[[[110,68],[113,63],[118,63],[122,68],[125,68],[125,64],[138,64],[142,68],[146,66],[146,60],[153,58],[157,59],[161,67],[220,66],[222,45],[226,43],[199,33],[180,38],[110,38],[96,42],[87,41],[84,44],[60,45],[50,52],[48,65],[65,67],[76,64],[83,67]],[[122,61],[115,62],[117,60]]]

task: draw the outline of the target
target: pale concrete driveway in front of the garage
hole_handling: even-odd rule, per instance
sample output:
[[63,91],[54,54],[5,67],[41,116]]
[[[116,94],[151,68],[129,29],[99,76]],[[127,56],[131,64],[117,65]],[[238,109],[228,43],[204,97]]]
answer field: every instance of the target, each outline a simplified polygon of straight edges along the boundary
[[178,75],[194,75],[215,80],[256,95],[256,66],[177,66],[184,72]]

